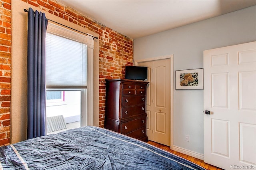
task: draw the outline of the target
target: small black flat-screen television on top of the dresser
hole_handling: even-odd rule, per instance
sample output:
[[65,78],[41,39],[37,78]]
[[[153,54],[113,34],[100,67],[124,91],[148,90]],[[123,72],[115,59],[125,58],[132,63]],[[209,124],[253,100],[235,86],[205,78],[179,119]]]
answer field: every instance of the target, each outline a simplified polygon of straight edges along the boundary
[[125,66],[125,79],[147,80],[148,79],[148,67]]

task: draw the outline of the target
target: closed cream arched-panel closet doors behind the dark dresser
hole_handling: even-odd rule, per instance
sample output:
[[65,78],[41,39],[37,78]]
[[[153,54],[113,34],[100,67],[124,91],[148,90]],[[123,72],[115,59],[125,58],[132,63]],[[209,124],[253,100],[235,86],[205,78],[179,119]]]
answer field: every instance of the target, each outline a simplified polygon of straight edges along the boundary
[[148,139],[170,146],[170,59],[138,63],[148,67]]

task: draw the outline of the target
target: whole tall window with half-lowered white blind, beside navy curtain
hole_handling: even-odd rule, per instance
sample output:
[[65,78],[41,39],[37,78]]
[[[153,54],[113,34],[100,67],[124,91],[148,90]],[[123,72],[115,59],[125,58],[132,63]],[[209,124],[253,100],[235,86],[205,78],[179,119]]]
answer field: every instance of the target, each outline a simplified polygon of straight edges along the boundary
[[[67,126],[91,125],[88,120],[88,37],[49,23],[46,34],[46,122],[63,117]],[[93,47],[93,46],[92,46]],[[90,46],[91,49],[91,46]],[[93,48],[92,48],[93,49]],[[92,50],[90,50],[92,51]],[[89,54],[89,55],[88,55]],[[91,68],[93,69],[93,68]],[[93,71],[91,72],[93,74]],[[91,77],[92,75],[89,75]],[[49,121],[47,121],[49,118]],[[51,119],[51,121],[50,121]],[[48,127],[48,125],[47,125]],[[69,127],[68,127],[69,128]],[[60,129],[62,130],[62,129]],[[47,130],[48,131],[48,130]],[[49,134],[49,133],[48,133]]]

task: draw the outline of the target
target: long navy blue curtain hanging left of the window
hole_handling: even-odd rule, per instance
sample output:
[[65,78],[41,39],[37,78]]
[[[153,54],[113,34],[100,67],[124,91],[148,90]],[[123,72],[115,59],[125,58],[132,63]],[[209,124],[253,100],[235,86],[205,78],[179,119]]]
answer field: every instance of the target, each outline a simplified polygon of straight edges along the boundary
[[45,134],[45,37],[47,19],[42,12],[28,10],[28,133],[27,139]]

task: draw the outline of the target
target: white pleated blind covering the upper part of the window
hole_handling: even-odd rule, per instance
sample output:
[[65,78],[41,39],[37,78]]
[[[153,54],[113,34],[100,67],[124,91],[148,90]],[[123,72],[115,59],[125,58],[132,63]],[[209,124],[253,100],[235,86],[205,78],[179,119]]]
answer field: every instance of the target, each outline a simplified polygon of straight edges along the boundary
[[46,86],[87,86],[86,44],[46,34]]

